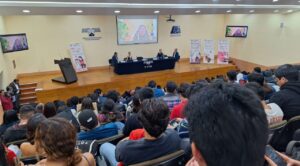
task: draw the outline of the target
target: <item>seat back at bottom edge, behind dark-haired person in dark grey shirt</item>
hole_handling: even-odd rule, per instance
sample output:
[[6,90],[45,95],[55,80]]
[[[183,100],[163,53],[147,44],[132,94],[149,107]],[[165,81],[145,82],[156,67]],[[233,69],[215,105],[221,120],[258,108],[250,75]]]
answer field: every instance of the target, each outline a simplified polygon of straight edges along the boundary
[[158,166],[181,166],[185,165],[184,163],[184,151],[179,150],[174,153],[149,160],[149,161],[144,161],[141,163],[133,164],[130,166],[153,166],[153,165],[158,165]]

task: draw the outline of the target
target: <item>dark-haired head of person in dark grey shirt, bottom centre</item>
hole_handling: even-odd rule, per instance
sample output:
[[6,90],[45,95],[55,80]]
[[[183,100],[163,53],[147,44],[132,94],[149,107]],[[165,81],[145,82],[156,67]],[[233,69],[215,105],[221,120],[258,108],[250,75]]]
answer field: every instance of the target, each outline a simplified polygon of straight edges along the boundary
[[138,119],[152,137],[159,137],[169,123],[169,108],[161,99],[146,99],[141,104]]

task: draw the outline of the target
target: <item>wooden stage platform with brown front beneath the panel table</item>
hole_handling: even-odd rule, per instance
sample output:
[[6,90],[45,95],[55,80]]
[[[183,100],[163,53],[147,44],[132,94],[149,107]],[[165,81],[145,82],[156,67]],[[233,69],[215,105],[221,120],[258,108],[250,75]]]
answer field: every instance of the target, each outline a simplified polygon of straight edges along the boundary
[[188,60],[182,60],[172,70],[130,75],[117,75],[113,72],[113,67],[108,66],[91,68],[87,72],[77,73],[78,82],[70,85],[51,81],[52,78],[61,76],[58,71],[20,74],[18,78],[21,84],[36,82],[37,101],[49,102],[57,99],[65,101],[71,96],[86,96],[96,88],[104,92],[114,89],[123,93],[137,86],[145,86],[150,80],[155,80],[162,87],[169,80],[191,83],[205,77],[226,75],[227,71],[233,69],[236,66],[232,64],[190,64]]

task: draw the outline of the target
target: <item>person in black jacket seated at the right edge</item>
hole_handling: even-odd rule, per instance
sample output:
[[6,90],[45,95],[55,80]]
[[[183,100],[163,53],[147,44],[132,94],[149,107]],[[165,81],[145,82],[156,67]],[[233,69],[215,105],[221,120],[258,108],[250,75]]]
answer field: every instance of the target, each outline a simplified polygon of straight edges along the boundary
[[270,99],[270,103],[276,103],[283,111],[283,119],[289,120],[300,115],[300,81],[298,70],[292,65],[282,65],[275,70],[277,85],[280,91]]

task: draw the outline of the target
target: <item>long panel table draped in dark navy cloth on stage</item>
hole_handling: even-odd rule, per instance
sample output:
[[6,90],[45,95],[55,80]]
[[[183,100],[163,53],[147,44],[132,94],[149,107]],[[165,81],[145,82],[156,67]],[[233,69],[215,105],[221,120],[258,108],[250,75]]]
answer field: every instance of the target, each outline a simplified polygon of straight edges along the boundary
[[174,69],[174,67],[175,58],[173,57],[165,59],[148,58],[141,61],[119,62],[115,65],[114,72],[117,74],[133,74]]

